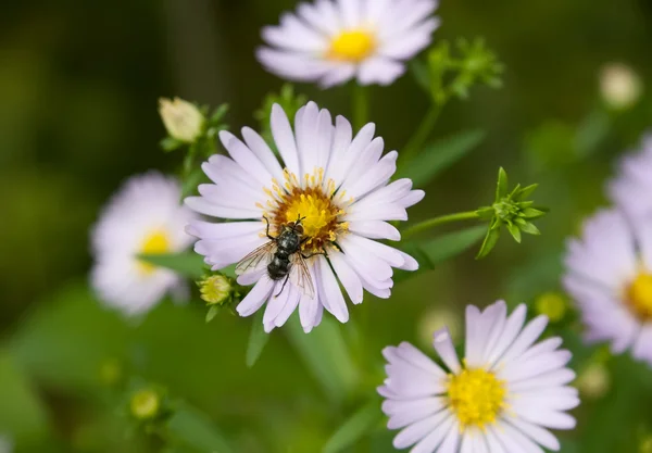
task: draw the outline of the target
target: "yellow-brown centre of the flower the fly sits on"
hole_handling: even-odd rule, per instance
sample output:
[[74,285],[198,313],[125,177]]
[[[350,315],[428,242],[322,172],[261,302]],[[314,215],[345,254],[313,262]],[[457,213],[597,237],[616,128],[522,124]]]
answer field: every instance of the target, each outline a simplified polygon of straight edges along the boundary
[[333,179],[324,181],[324,168],[315,168],[312,175],[306,173],[302,184],[285,169],[284,179],[283,185],[273,179],[272,190],[265,188],[269,197],[266,206],[258,204],[269,221],[271,232],[278,234],[284,226],[301,218],[303,237],[309,238],[302,250],[309,254],[324,252],[325,246],[347,231],[349,225],[342,221],[343,207],[353,200],[344,198],[346,191],[337,192]]

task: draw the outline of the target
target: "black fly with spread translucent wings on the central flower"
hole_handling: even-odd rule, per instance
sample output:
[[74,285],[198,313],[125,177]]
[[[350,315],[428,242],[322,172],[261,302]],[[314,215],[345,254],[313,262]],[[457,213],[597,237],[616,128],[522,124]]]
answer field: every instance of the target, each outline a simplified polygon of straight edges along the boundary
[[274,281],[284,280],[278,297],[288,280],[291,278],[294,286],[300,288],[310,298],[314,297],[314,286],[312,277],[305,260],[310,256],[304,256],[301,253],[301,246],[310,239],[303,237],[302,218],[297,218],[297,222],[290,222],[283,225],[280,234],[276,237],[269,235],[269,221],[263,217],[267,224],[266,235],[269,239],[253,252],[244,256],[236,266],[236,274],[244,274],[249,269],[260,269],[266,265],[267,275]]

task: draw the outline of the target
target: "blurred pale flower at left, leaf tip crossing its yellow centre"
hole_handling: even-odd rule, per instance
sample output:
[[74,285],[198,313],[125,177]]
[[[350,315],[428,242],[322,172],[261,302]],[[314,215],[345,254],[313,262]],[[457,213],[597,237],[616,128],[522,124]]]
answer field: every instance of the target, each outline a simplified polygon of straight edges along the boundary
[[136,315],[168,291],[184,289],[172,270],[137,259],[180,252],[192,243],[184,228],[197,215],[180,197],[179,184],[155,172],[131,177],[113,196],[91,234],[91,281],[103,302]]

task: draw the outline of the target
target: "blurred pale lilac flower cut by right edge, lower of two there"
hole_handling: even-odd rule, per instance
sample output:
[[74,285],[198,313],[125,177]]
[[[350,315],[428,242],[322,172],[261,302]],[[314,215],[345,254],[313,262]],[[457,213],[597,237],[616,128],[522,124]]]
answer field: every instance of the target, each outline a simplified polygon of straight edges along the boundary
[[629,224],[617,210],[588,219],[568,242],[564,286],[586,325],[587,340],[610,341],[652,364],[652,223]]

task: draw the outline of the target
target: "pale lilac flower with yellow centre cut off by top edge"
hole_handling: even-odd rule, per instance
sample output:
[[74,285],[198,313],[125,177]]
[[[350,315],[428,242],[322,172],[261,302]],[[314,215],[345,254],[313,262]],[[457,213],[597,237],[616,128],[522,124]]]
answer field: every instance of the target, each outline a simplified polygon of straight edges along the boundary
[[389,85],[404,61],[431,41],[439,20],[437,0],[316,0],[285,13],[280,25],[263,28],[269,47],[258,50],[267,71],[322,87],[358,78]]

